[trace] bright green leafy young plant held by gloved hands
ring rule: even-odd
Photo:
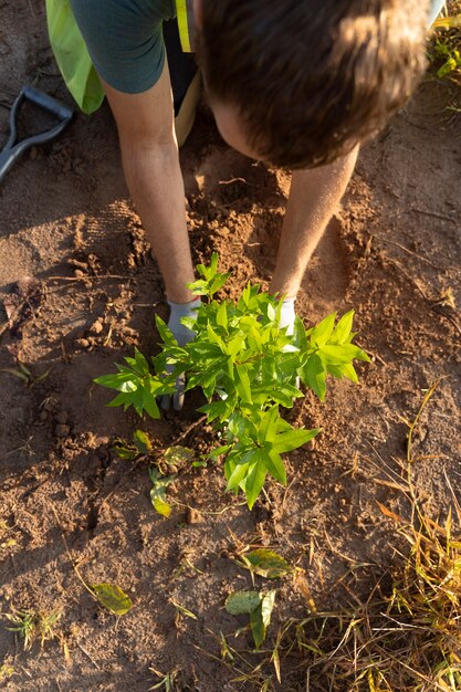
[[[223,457],[227,490],[241,489],[251,508],[268,473],[286,484],[282,454],[305,444],[319,429],[295,429],[280,415],[280,407],[292,408],[303,397],[298,380],[321,400],[325,398],[326,376],[346,377],[357,382],[353,360],[369,360],[352,343],[355,334],[353,311],[336,323],[336,313],[306,329],[296,318],[293,336],[280,327],[281,301],[248,285],[237,303],[213,296],[228,275],[218,271],[218,256],[210,266],[197,266],[201,279],[189,284],[205,296],[196,317],[182,323],[196,334],[180,347],[160,317],[156,324],[161,350],[147,359],[138,352],[117,365],[118,373],[98,377],[98,385],[118,391],[108,406],[133,406],[159,417],[156,397],[175,391],[177,377],[186,373],[186,390],[200,387],[208,403],[199,410],[221,433],[224,443],[211,458]]]

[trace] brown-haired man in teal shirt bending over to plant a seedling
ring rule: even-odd
[[[440,9],[441,2],[436,2]],[[164,22],[181,13],[223,139],[292,169],[270,292],[292,329],[308,261],[358,147],[426,67],[421,0],[71,0],[114,114],[125,177],[158,262],[180,344],[198,302]],[[432,6],[432,10],[434,7]],[[190,64],[188,66],[190,70]],[[175,74],[174,74],[175,77]],[[182,396],[176,400],[180,408]]]

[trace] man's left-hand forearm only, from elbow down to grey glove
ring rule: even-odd
[[[195,296],[186,283],[195,276],[177,148],[174,143],[147,146],[143,140],[121,140],[121,145],[128,188],[160,268],[167,298],[191,301]]]

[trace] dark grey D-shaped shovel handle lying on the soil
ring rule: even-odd
[[[52,127],[51,129],[39,133],[36,135],[31,135],[25,139],[17,141],[18,115],[21,106],[25,101],[29,101],[33,105],[39,106],[39,108],[42,108],[51,115],[54,115],[59,119],[59,123],[54,125],[54,127]],[[57,135],[60,135],[63,129],[67,127],[73,116],[74,112],[55,98],[52,98],[48,94],[39,91],[38,88],[33,88],[32,86],[24,86],[21,90],[17,99],[14,101],[13,105],[11,106],[9,117],[10,136],[8,137],[7,144],[0,153],[0,182],[3,180],[4,176],[10,170],[14,161],[17,161],[17,159],[19,159],[19,157],[27,149],[38,144],[44,144],[45,141],[50,141],[50,139],[54,139],[54,137],[57,137]]]

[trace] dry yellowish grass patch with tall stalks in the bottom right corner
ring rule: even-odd
[[[408,507],[404,518],[378,503],[400,545],[394,565],[376,579],[366,600],[343,583],[349,605],[342,610],[317,612],[306,598],[306,617],[284,622],[273,648],[260,652],[258,665],[250,652],[234,650],[221,635],[221,662],[233,671],[235,689],[461,692],[461,506],[447,479],[451,506],[433,518],[412,483],[420,459],[412,432],[439,381],[427,390],[413,422],[407,422],[407,459],[398,463],[399,473],[380,463],[389,475],[386,484],[402,494]]]

